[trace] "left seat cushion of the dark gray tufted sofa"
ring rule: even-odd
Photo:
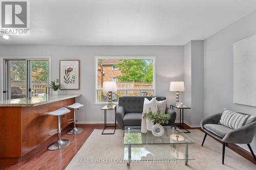
[[[126,113],[123,117],[123,124],[124,126],[140,126],[141,117],[141,113]]]

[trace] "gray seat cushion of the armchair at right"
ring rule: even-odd
[[[221,138],[223,138],[227,133],[232,131],[232,129],[218,124],[206,124],[204,125],[204,128]]]

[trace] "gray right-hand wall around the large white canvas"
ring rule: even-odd
[[[204,117],[224,108],[256,115],[256,107],[233,103],[232,56],[234,42],[256,34],[255,20],[256,11],[204,41]],[[256,150],[256,136],[252,148]]]

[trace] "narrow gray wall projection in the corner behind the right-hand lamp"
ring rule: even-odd
[[[204,116],[203,41],[184,45],[184,101],[191,109],[184,111],[185,122],[198,127]]]

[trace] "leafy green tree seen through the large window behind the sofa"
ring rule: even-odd
[[[123,59],[116,66],[122,72],[121,82],[153,82],[153,60]]]

